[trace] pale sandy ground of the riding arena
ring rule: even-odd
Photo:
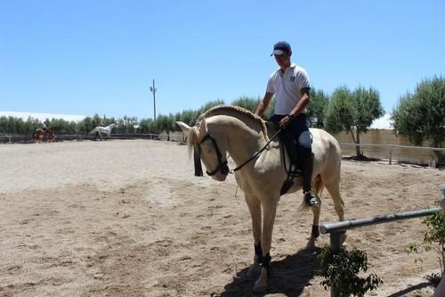
[[[193,177],[187,147],[150,140],[0,145],[0,296],[249,296],[250,218],[234,177]],[[424,209],[445,171],[343,161],[346,218]],[[328,296],[315,252],[304,251],[312,213],[285,195],[272,242],[268,296]],[[328,194],[321,221],[336,220]],[[349,232],[384,285],[370,296],[430,296],[422,219]],[[318,245],[328,243],[321,235]],[[419,256],[420,257],[420,256]]]

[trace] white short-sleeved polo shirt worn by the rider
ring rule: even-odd
[[[275,95],[274,113],[285,115],[292,111],[300,101],[300,90],[303,87],[311,87],[311,83],[302,67],[292,63],[284,73],[281,70],[273,72],[267,82],[266,92]]]

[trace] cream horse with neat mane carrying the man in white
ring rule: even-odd
[[[207,174],[218,181],[225,180],[230,172],[235,171],[235,178],[250,210],[255,241],[254,264],[249,268],[247,276],[259,274],[254,291],[265,292],[271,263],[269,252],[272,229],[280,189],[287,179],[285,164],[289,164],[286,153],[280,148],[278,137],[271,139],[278,129],[250,111],[228,105],[219,105],[206,111],[194,127],[183,122],[177,124],[183,132],[188,133],[190,152],[191,149],[195,151],[195,170],[202,160]],[[320,196],[326,187],[334,200],[338,218],[344,220],[344,202],[339,191],[342,161],[340,145],[336,138],[324,130],[312,128],[311,133],[314,190]],[[266,149],[258,154],[264,147]],[[237,166],[232,171],[227,166],[228,154]],[[301,187],[302,177],[296,177],[294,186],[287,194]],[[302,207],[304,205],[302,202]],[[315,246],[315,240],[320,235],[320,206],[319,201],[318,207],[312,207],[313,225],[307,244],[309,248]]]

